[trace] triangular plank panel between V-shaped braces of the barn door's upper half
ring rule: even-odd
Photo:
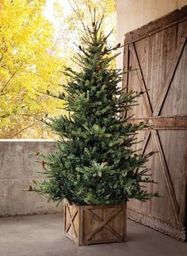
[[[162,93],[163,82],[170,71],[170,64],[173,63],[177,43],[177,25],[155,33],[148,38],[150,39],[149,63],[144,69],[148,70],[147,88],[149,89],[152,109],[155,110]],[[135,44],[141,44],[141,41]]]

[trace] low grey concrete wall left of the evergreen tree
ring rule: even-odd
[[[44,140],[0,139],[0,216],[62,212],[63,207],[47,202],[44,196],[28,189],[32,179],[42,178],[36,152],[49,152],[53,147]]]

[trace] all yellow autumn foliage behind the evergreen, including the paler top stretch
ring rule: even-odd
[[[55,0],[59,38],[52,22],[44,17],[46,0],[0,0],[0,139],[52,138],[40,120],[59,115],[62,101],[40,94],[62,90],[63,66],[74,65],[82,25],[72,11],[64,15],[63,2]],[[89,8],[105,13],[105,31],[115,28],[115,0],[69,0],[84,21]],[[61,23],[60,23],[61,21]],[[116,38],[115,30],[112,44]],[[115,65],[115,63],[114,63]]]

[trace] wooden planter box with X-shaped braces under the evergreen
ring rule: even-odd
[[[63,201],[63,230],[78,246],[126,241],[126,204],[76,205]]]

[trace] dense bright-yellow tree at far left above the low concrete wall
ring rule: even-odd
[[[58,101],[37,91],[58,88],[64,60],[58,48],[51,51],[54,29],[44,0],[0,5],[0,138],[42,138],[37,119],[56,114]]]

